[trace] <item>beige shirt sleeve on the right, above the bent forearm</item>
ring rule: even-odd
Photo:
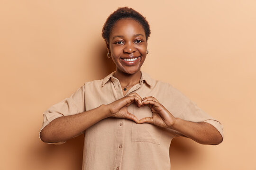
[[[214,126],[222,136],[223,126],[220,122],[212,117],[210,117],[206,112],[201,110],[194,102],[190,101],[187,107],[183,110],[182,114],[179,116],[181,119],[192,121],[192,122],[206,122]]]

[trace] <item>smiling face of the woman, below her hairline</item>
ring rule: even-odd
[[[112,28],[107,46],[116,64],[115,76],[118,78],[122,74],[128,74],[138,77],[139,80],[140,68],[146,59],[147,48],[143,27],[134,19],[119,20]],[[128,82],[125,83],[127,84],[121,85],[129,85]]]

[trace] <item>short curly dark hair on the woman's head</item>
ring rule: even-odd
[[[136,20],[138,23],[140,23],[145,31],[146,40],[148,39],[151,32],[150,32],[149,24],[146,20],[146,17],[143,17],[140,13],[138,13],[133,8],[122,7],[122,8],[118,8],[116,11],[110,14],[110,16],[107,18],[102,28],[102,37],[107,43],[109,43],[110,41],[109,38],[110,38],[110,33],[113,26],[116,24],[117,21],[123,18],[131,18]]]

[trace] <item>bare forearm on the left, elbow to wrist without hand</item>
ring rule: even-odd
[[[101,105],[79,114],[56,118],[41,131],[40,137],[42,141],[47,143],[66,141],[107,118],[108,114],[106,105]]]

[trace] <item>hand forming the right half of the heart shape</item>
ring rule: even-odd
[[[154,97],[145,97],[142,105],[149,105],[153,115],[139,120],[139,123],[150,123],[159,127],[170,128],[174,125],[176,118]]]

